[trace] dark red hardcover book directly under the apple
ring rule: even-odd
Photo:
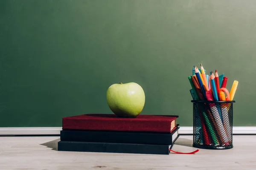
[[[83,114],[62,118],[62,129],[112,130],[171,133],[178,116],[139,115],[136,118],[120,118],[115,114]]]

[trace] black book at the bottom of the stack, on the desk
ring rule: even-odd
[[[169,155],[172,145],[59,141],[58,151]]]

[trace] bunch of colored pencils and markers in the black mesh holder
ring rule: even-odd
[[[195,113],[198,114],[196,115],[198,118],[200,116],[201,121],[199,120],[196,125],[199,129],[196,132],[198,136],[195,140],[198,144],[203,145],[228,146],[232,142],[232,125],[229,122],[229,110],[232,105],[215,101],[233,100],[238,81],[233,82],[229,93],[226,89],[227,77],[224,77],[224,74],[218,75],[218,71],[215,70],[215,74],[210,71],[210,74],[206,75],[202,63],[200,66],[200,69],[194,66],[192,76],[189,76],[192,85],[190,92],[194,100],[196,98],[194,94],[198,94],[198,100],[211,100],[212,102],[198,103],[199,113]],[[211,98],[208,99],[207,95]]]

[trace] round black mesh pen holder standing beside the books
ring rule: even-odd
[[[193,147],[233,148],[233,103],[235,101],[198,101],[193,103]]]

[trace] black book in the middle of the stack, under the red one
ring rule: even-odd
[[[61,130],[60,140],[68,142],[172,145],[179,136],[178,129],[179,127],[173,130],[172,133]]]

